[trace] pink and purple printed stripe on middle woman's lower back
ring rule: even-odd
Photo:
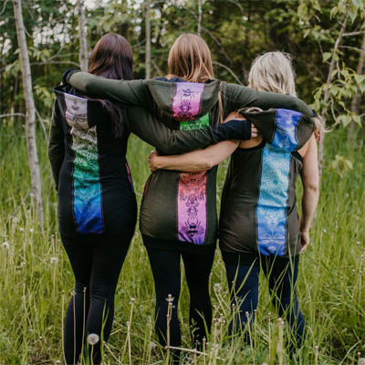
[[[206,231],[207,172],[180,174],[177,196],[178,239],[203,245]]]

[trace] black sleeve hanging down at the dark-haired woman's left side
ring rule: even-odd
[[[56,190],[58,190],[58,177],[61,170],[62,162],[65,157],[64,133],[62,130],[60,114],[57,101],[53,109],[51,128],[49,132],[48,142],[48,158],[51,163],[53,178],[56,183]]]

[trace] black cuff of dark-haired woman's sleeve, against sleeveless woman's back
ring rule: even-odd
[[[212,130],[217,141],[251,139],[251,121],[249,120],[229,120],[212,127]]]

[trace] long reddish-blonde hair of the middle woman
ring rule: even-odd
[[[205,82],[214,78],[212,55],[201,36],[186,33],[179,36],[169,54],[169,75],[190,82]]]

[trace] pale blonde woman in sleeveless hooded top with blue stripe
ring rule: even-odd
[[[249,73],[249,86],[296,96],[291,58],[281,52],[257,57]],[[259,136],[250,141],[224,141],[181,156],[158,156],[153,152],[149,157],[151,171],[208,170],[233,153],[219,225],[231,301],[239,308],[231,331],[240,332],[248,320],[254,319],[262,269],[278,314],[287,316],[295,338],[293,344],[300,347],[304,319],[297,303],[297,266],[299,253],[309,244],[309,226],[318,203],[317,144],[312,131],[314,125],[320,135],[321,126],[315,118],[304,122],[306,117],[294,110],[241,113],[255,123]],[[238,115],[233,113],[232,117]],[[303,183],[300,220],[296,209],[297,174]]]

